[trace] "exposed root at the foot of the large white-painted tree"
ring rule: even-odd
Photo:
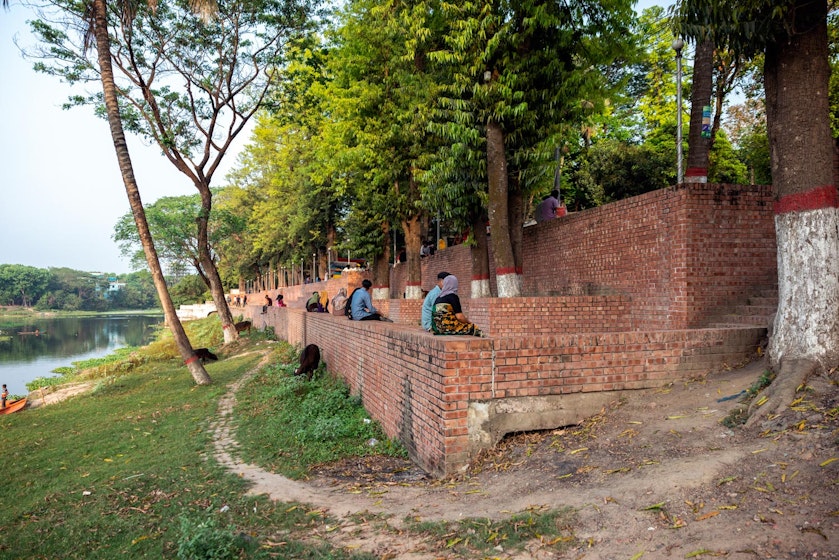
[[[749,419],[746,420],[746,427],[750,428],[760,423],[767,429],[787,428],[781,416],[789,408],[798,389],[818,371],[819,364],[814,360],[783,361],[772,384],[758,393],[749,405]]]

